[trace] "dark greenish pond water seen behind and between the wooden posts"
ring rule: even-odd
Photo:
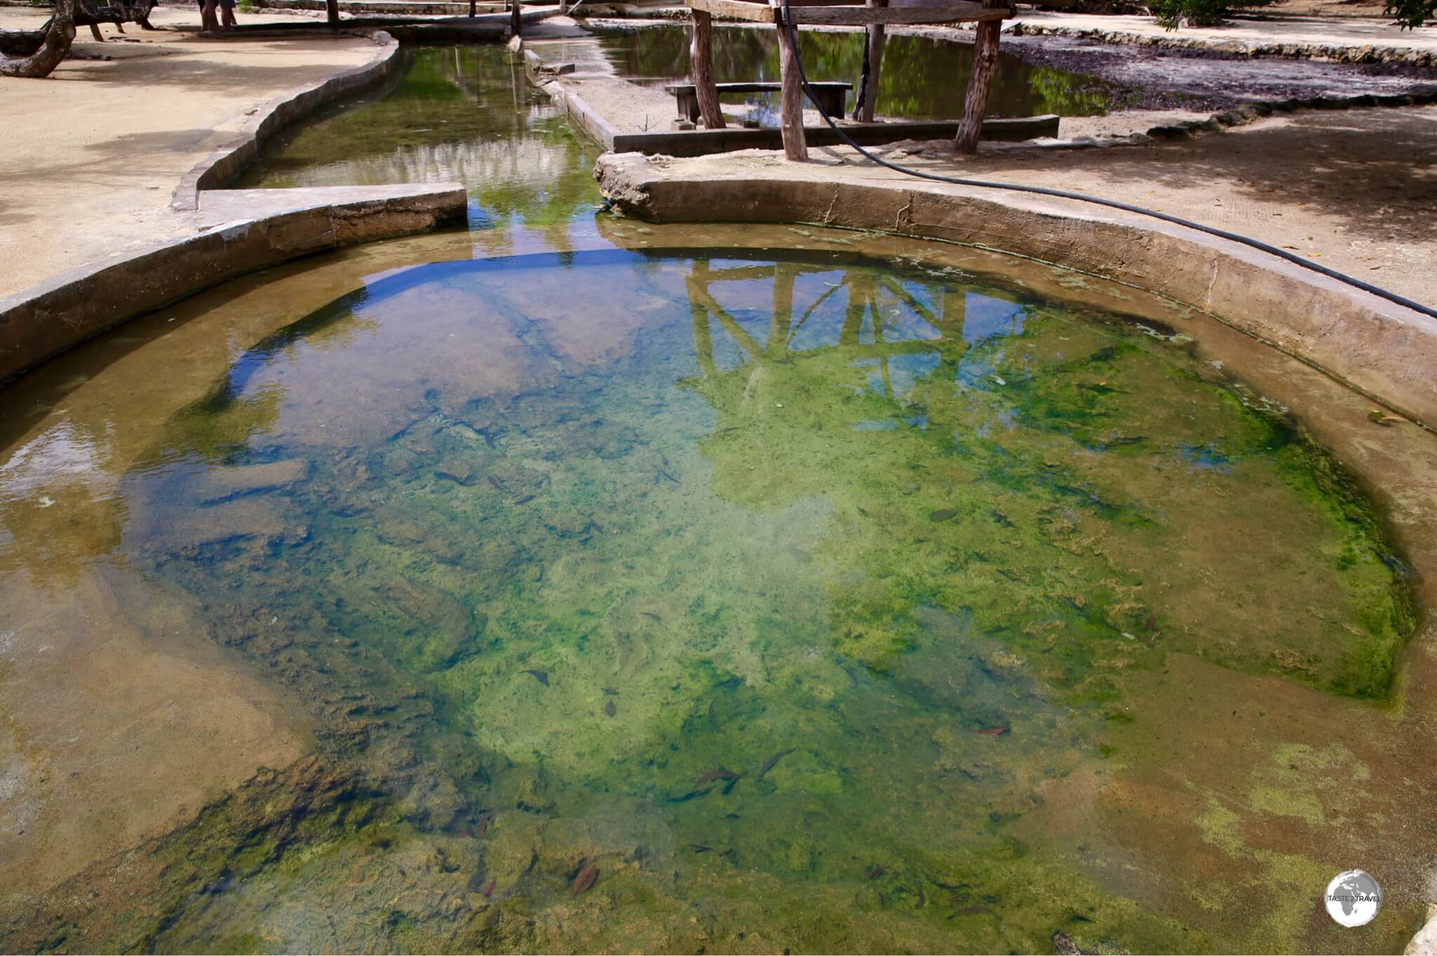
[[[690,79],[688,35],[684,27],[593,30],[619,76],[664,85]],[[803,66],[813,81],[846,81],[858,89],[864,63],[864,35],[803,32]],[[772,29],[720,27],[714,30],[717,82],[777,82],[779,47]],[[973,68],[973,46],[924,36],[888,36],[878,78],[878,114],[905,119],[957,119]],[[934,78],[943,78],[934,82]],[[855,92],[848,93],[854,109]],[[989,115],[1095,116],[1122,102],[1124,91],[1096,76],[1036,66],[999,53],[989,93]],[[750,95],[744,102],[766,108],[766,121],[777,99]]]

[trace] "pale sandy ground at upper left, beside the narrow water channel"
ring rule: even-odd
[[[244,16],[244,14],[241,14]],[[0,7],[0,27],[34,29],[32,10]],[[160,7],[157,27],[195,26]],[[253,22],[247,19],[246,22]],[[49,79],[0,78],[0,298],[116,252],[194,230],[170,210],[197,162],[274,96],[369,60],[364,37],[207,40],[193,33],[76,35],[80,56]]]

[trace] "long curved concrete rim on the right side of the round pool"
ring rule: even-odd
[[[1016,253],[1190,305],[1414,421],[1437,424],[1437,321],[1256,249],[1079,201],[879,178],[856,165],[609,154],[604,194],[650,221],[792,221]]]

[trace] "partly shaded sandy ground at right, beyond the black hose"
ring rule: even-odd
[[[885,158],[1181,216],[1437,305],[1437,106],[1300,112],[1178,142],[984,144],[964,160],[941,145],[897,147]]]

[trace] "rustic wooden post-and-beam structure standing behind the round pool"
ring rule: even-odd
[[[808,145],[803,141],[803,88],[799,79],[798,58],[793,37],[783,19],[783,0],[685,0],[693,16],[693,46],[690,49],[694,86],[698,96],[698,112],[708,129],[723,128],[723,114],[718,109],[718,91],[713,68],[713,17],[714,14],[773,23],[779,33],[779,76],[780,125],[783,129],[783,152],[790,160],[806,160]],[[997,68],[999,20],[1013,16],[1004,0],[789,0],[793,26],[803,23],[822,26],[862,26],[868,29],[869,76],[862,86],[862,102],[858,116],[872,122],[874,102],[878,91],[878,70],[882,62],[884,26],[888,23],[977,23],[973,72],[969,76],[967,98],[963,104],[963,122],[954,139],[961,152],[977,148],[983,127],[983,111],[987,105],[989,86]]]

